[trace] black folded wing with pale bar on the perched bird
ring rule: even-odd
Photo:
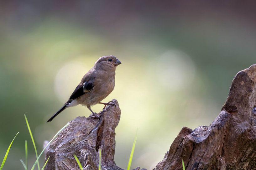
[[[74,100],[74,99],[80,97],[81,95],[91,91],[94,87],[93,82],[94,82],[94,78],[90,78],[90,79],[81,81],[81,83],[79,85],[77,85],[76,89],[70,96],[69,100]]]

